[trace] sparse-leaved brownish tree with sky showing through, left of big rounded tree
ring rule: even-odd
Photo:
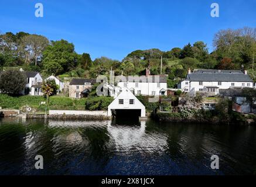
[[[47,46],[49,46],[49,40],[36,34],[23,36],[19,45],[20,51],[25,55],[25,63],[29,64],[35,60],[35,66]]]

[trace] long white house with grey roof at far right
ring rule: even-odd
[[[209,92],[218,95],[219,89],[228,88],[253,88],[253,81],[247,74],[240,70],[194,70],[187,74],[185,80],[180,82],[178,88],[183,92]]]

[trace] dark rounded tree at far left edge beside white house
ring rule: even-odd
[[[26,76],[17,70],[2,71],[0,75],[0,89],[4,93],[18,95],[25,89]]]

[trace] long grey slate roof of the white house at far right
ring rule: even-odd
[[[213,81],[213,82],[253,82],[249,75],[238,70],[202,70],[187,74],[186,81]]]

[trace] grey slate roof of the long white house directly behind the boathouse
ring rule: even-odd
[[[159,79],[158,77],[159,76]],[[118,76],[119,79],[122,79],[122,82],[167,82],[167,76],[166,75],[149,75],[147,78],[146,76],[134,76],[134,77],[125,77],[125,76]],[[132,78],[132,79],[131,79]],[[124,81],[126,80],[126,81]]]

